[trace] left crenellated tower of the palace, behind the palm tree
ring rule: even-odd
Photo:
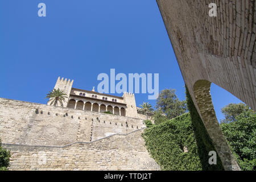
[[[70,81],[70,79],[67,80],[67,78],[58,78],[55,84],[55,89],[60,89],[60,90],[64,90],[64,92],[67,94],[67,97],[69,98],[69,95],[71,93],[71,89],[72,89],[72,85],[73,85],[73,80]],[[68,98],[65,98],[66,102],[63,102],[63,107],[67,107],[68,104]],[[48,102],[47,105],[49,105],[50,103]]]

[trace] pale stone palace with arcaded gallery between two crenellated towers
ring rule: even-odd
[[[144,113],[140,107],[136,106],[136,101],[133,93],[123,93],[122,97],[103,94],[92,90],[82,90],[72,88],[73,80],[67,78],[58,78],[55,84],[55,89],[64,90],[67,94],[64,107],[89,110],[98,113],[110,112],[115,115],[126,117],[146,119],[146,115],[151,117],[153,113]],[[50,102],[48,102],[49,105]]]

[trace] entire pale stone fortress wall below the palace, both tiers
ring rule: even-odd
[[[155,170],[142,119],[0,98],[11,170]]]

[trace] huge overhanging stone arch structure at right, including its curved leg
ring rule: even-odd
[[[185,84],[224,168],[240,169],[218,125],[210,83],[256,109],[255,1],[157,2]],[[209,16],[210,3],[217,4],[216,17]]]

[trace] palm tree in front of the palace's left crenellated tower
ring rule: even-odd
[[[66,102],[65,98],[68,98],[68,97],[67,97],[67,94],[64,92],[64,90],[60,90],[58,88],[58,89],[53,89],[53,90],[49,91],[46,98],[49,98],[49,101],[51,101],[50,105],[52,105],[54,103],[53,105],[57,106],[58,101],[59,101],[60,106],[63,107],[63,101]]]

